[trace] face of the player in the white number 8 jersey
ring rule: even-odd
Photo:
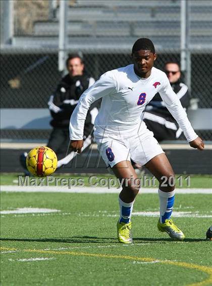
[[[139,50],[134,52],[132,54],[132,59],[136,75],[141,78],[148,78],[151,74],[151,68],[156,57],[156,54],[149,50]]]

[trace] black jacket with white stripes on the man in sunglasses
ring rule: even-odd
[[[186,110],[189,106],[189,99],[190,99],[189,93],[188,93],[188,87],[180,81],[177,81],[176,83],[171,84],[171,86],[172,86],[173,91],[176,93],[176,95],[180,99],[182,106]],[[164,117],[167,120],[175,121],[172,114],[166,108],[166,105],[163,102],[159,93],[155,94],[153,99],[147,105],[145,111]]]

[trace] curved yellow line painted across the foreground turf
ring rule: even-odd
[[[8,248],[1,247],[0,250],[18,250],[16,248]],[[86,253],[86,252],[73,252],[73,251],[55,251],[55,250],[41,250],[41,249],[23,249],[23,252],[34,252],[34,253],[46,253],[46,254],[59,254],[59,255],[73,255],[73,256],[89,256],[89,257],[100,257],[100,258],[115,258],[115,259],[127,259],[127,260],[136,260],[136,261],[145,261],[145,262],[153,262],[155,258],[151,257],[136,257],[136,256],[127,256],[127,255],[112,255],[112,254],[98,254],[98,253]],[[187,262],[178,262],[178,261],[170,261],[170,260],[160,260],[161,263],[176,265],[180,267],[196,269],[202,272],[209,274],[209,277],[206,280],[201,282],[192,283],[188,286],[204,286],[212,284],[212,267],[209,266],[201,266]]]

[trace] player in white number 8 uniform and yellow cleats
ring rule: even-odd
[[[82,94],[70,119],[70,146],[75,152],[81,153],[86,113],[95,100],[102,98],[94,123],[94,139],[104,162],[123,183],[117,223],[118,240],[122,243],[132,243],[131,215],[139,191],[139,180],[136,180],[130,159],[145,165],[160,183],[158,230],[167,232],[176,240],[185,237],[171,219],[175,200],[173,169],[153,133],[142,120],[146,104],[157,92],[184,131],[190,146],[204,149],[203,141],[194,132],[166,74],[153,67],[156,57],[152,41],[138,39],[132,47],[133,64],[103,74]],[[166,183],[163,176],[167,178]]]

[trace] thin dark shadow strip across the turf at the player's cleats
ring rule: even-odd
[[[1,241],[25,241],[25,242],[59,242],[59,243],[118,243],[115,237],[96,237],[96,236],[74,236],[70,238],[0,238]],[[171,238],[134,238],[136,242],[172,242]],[[186,238],[183,242],[206,241],[201,238]]]

